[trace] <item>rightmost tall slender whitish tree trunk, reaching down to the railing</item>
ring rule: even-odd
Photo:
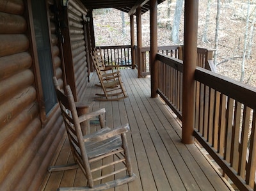
[[[244,64],[246,59],[246,49],[247,49],[247,43],[248,43],[249,18],[250,18],[250,0],[247,1],[247,15],[246,15],[246,26],[245,26],[245,33],[244,33],[243,60],[241,63],[241,78],[240,78],[241,82],[244,81]]]

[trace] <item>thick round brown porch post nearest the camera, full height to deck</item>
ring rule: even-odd
[[[182,142],[195,139],[195,70],[197,54],[198,0],[185,0],[184,61],[182,86]]]

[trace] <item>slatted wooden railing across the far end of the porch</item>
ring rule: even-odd
[[[137,46],[131,47],[131,45],[100,46],[96,47],[96,49],[101,49],[106,65],[128,67],[134,65],[138,68],[138,77],[150,75],[150,47],[142,47],[140,52],[138,52]],[[132,63],[132,49],[135,50],[135,63]],[[183,60],[183,47],[180,45],[158,47],[158,52]],[[215,66],[211,61],[213,50],[198,48],[197,52],[197,66],[215,71]],[[209,63],[211,63],[211,65],[209,65]]]

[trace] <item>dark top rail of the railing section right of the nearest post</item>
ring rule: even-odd
[[[196,67],[195,79],[252,109],[256,109],[256,88],[252,86],[200,67]]]

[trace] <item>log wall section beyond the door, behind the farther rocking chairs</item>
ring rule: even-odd
[[[86,11],[76,1],[70,1],[68,5],[68,24],[77,100],[80,100],[85,95],[86,84],[88,82],[83,14],[86,15]]]

